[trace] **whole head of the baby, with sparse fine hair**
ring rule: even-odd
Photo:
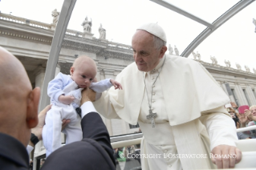
[[[71,79],[77,83],[79,88],[90,87],[96,73],[97,67],[94,60],[84,55],[75,59],[70,70]]]

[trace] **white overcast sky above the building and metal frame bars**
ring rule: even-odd
[[[226,10],[234,6],[237,0],[167,0],[189,13],[213,22]],[[1,0],[2,13],[28,18],[39,22],[52,22],[51,11],[60,11],[63,0]],[[158,22],[166,32],[168,42],[177,46],[180,54],[185,47],[205,29],[205,26],[185,18],[149,0],[77,0],[68,28],[83,31],[81,23],[85,17],[92,19],[92,34],[99,38],[98,28],[102,23],[107,30],[107,39],[131,45],[136,27],[146,22]],[[240,63],[256,69],[256,33],[253,18],[256,19],[256,2],[205,39],[196,49],[201,60],[211,63],[210,55],[217,58],[221,66],[224,60],[230,60],[231,67]],[[193,59],[193,55],[189,55]]]

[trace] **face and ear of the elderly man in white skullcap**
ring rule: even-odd
[[[132,38],[133,58],[139,71],[152,71],[165,55],[166,47],[157,50],[153,35],[144,30],[137,30]]]

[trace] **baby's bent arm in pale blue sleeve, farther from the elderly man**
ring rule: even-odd
[[[61,102],[64,104],[70,104],[75,99],[72,96],[65,96],[63,92],[63,84],[66,83],[65,79],[68,75],[63,75],[59,73],[55,79],[52,79],[50,83],[48,83],[47,94],[51,99],[54,99],[56,102]]]

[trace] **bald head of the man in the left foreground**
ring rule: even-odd
[[[39,88],[32,91],[22,63],[0,47],[0,132],[26,145],[38,122]]]

